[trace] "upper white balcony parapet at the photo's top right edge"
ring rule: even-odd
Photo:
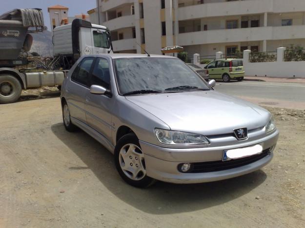
[[[300,0],[243,0],[190,5],[178,8],[179,20],[233,15],[305,11]]]

